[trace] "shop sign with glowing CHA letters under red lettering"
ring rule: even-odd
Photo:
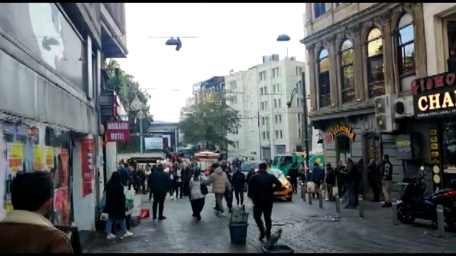
[[[411,83],[415,118],[456,115],[456,75],[443,73]]]

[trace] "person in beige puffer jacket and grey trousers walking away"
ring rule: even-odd
[[[231,189],[227,174],[218,164],[213,164],[214,172],[209,176],[207,183],[212,184],[212,192],[215,194],[217,216],[223,216],[223,195],[227,189]]]

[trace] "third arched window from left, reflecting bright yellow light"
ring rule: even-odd
[[[385,94],[385,77],[383,73],[383,36],[382,31],[373,28],[368,35],[367,42],[367,67],[369,97]]]

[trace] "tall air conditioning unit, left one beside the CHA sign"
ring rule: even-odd
[[[375,97],[375,123],[380,133],[390,133],[397,130],[394,123],[394,96],[386,94]]]

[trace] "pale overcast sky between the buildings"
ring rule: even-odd
[[[246,70],[261,63],[263,55],[296,56],[304,61],[303,13],[306,3],[126,3],[127,47],[120,60],[152,94],[155,120],[177,122],[180,108],[192,96],[192,85],[231,69]],[[291,37],[277,42],[280,34]],[[158,36],[182,38],[182,48],[165,46]]]

